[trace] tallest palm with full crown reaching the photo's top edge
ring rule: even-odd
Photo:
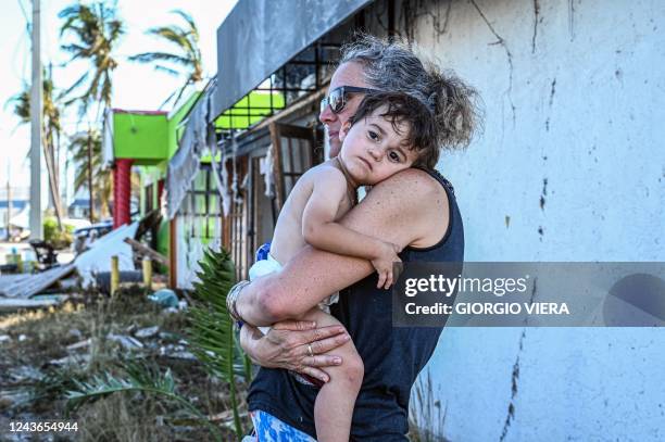
[[[80,116],[83,117],[88,111],[91,102],[97,102],[97,117],[100,119],[100,111],[103,106],[111,105],[111,97],[113,93],[113,83],[111,75],[117,67],[117,61],[114,58],[114,49],[117,46],[120,37],[124,34],[124,24],[116,15],[115,3],[111,7],[105,5],[103,1],[99,1],[91,5],[73,4],[63,9],[60,18],[64,20],[64,24],[60,28],[61,37],[64,34],[73,36],[73,42],[62,45],[61,48],[72,54],[73,60],[88,60],[91,64],[91,70],[83,74],[66,91],[68,96],[74,90],[88,81],[85,92],[68,100],[67,103],[78,101],[80,103]],[[88,134],[93,130],[88,128]],[[75,159],[79,159],[88,168],[88,180],[90,181],[89,198],[90,198],[90,219],[95,219],[95,195],[92,176],[104,182],[109,181],[106,177],[101,178],[101,174],[106,175],[108,172],[101,169],[101,147],[93,148],[91,144],[91,136],[85,137],[87,144],[81,146],[78,142],[73,142],[72,147],[83,149],[83,153],[75,151]],[[88,156],[84,161],[83,156]],[[100,168],[93,174],[92,167],[99,164]],[[83,181],[81,181],[83,182]]]

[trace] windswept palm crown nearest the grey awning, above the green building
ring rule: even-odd
[[[159,26],[147,30],[147,34],[161,38],[175,45],[175,52],[143,52],[129,58],[139,63],[155,63],[154,68],[171,75],[187,76],[185,85],[180,88],[176,102],[189,85],[197,85],[203,79],[203,60],[199,49],[199,29],[188,13],[181,10],[172,11],[185,21],[184,26]],[[164,65],[165,62],[167,65]],[[165,103],[171,100],[168,97]]]

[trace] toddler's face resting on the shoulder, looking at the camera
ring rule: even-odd
[[[380,116],[385,112],[381,106],[353,126],[346,123],[339,132],[339,160],[356,185],[374,186],[417,160],[415,149],[405,140],[409,124],[400,123],[396,131],[392,123]]]

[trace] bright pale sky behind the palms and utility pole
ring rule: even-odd
[[[41,0],[41,59],[45,66],[52,65],[55,87],[66,89],[87,68],[85,62],[68,62],[68,55],[60,50],[58,13],[75,0]],[[113,75],[112,106],[127,110],[156,110],[179,86],[184,78],[154,71],[150,65],[133,63],[128,56],[149,51],[170,51],[168,43],[161,42],[145,31],[153,26],[181,24],[170,12],[181,9],[195,20],[200,34],[200,48],[205,75],[217,71],[216,30],[237,0],[118,0],[118,15],[125,22],[125,35],[117,47],[118,67]],[[29,125],[21,125],[8,101],[30,80],[32,42],[27,20],[32,21],[30,0],[3,0],[0,14],[0,186],[29,186],[27,160],[30,136]],[[109,2],[106,2],[109,3]],[[65,36],[66,39],[66,36]],[[170,109],[165,109],[170,110]],[[65,134],[73,135],[84,126],[77,123],[72,109],[63,117]],[[65,144],[65,142],[63,142]],[[64,159],[63,159],[64,161]],[[61,161],[62,163],[62,161]],[[64,167],[62,163],[61,167]],[[46,167],[42,166],[42,187],[46,189]],[[42,193],[42,201],[45,193]]]

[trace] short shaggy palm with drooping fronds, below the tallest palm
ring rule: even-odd
[[[73,152],[72,162],[76,167],[74,175],[74,191],[88,188],[89,194],[97,194],[101,202],[102,217],[109,216],[109,201],[111,200],[111,177],[102,164],[102,141],[99,130],[88,129],[76,134],[70,139],[70,151]],[[90,211],[93,201],[90,200]],[[90,212],[92,214],[92,212]]]

